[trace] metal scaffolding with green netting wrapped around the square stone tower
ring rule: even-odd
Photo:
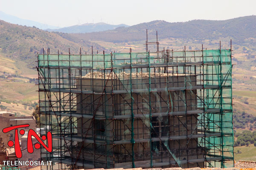
[[[38,54],[47,169],[233,167],[231,51]]]

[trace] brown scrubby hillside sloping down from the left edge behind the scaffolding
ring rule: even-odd
[[[57,53],[60,50],[60,53],[66,54],[70,48],[72,54],[78,54],[80,48],[83,53],[91,51],[92,45],[99,50],[104,49],[89,41],[73,42],[53,32],[10,24],[0,20],[0,54],[14,61],[23,61],[29,68],[36,65],[34,62],[36,60],[35,55],[38,52],[42,53],[42,48],[50,48],[51,53]]]

